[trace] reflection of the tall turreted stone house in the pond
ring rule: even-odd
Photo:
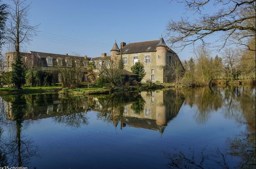
[[[139,112],[135,109],[135,103],[124,105],[122,126],[133,126],[151,130],[159,130],[161,133],[179,112],[184,97],[176,91],[152,91],[141,92],[144,108]]]

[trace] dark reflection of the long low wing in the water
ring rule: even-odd
[[[30,95],[30,98],[26,98],[26,105],[23,108],[23,120],[37,120],[72,113],[87,113],[88,106],[87,101],[82,99],[60,100],[58,95]],[[5,113],[7,120],[14,120],[12,102],[9,99],[6,102]]]

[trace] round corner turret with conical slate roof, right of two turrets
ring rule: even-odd
[[[156,67],[163,68],[167,65],[166,62],[166,53],[167,53],[167,45],[163,37],[161,36],[157,46],[156,46]]]

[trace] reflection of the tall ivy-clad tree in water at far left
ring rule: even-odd
[[[8,156],[10,165],[27,166],[30,158],[36,155],[37,147],[31,139],[21,135],[26,100],[22,95],[13,96],[11,105],[16,135],[14,138],[2,140],[1,142],[4,145],[4,151],[6,152],[6,156]]]

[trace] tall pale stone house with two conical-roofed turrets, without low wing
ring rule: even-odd
[[[117,43],[114,43],[111,50],[111,57],[121,55],[125,69],[131,71],[131,67],[136,62],[144,65],[146,72],[142,82],[173,82],[174,81],[174,64],[178,64],[180,70],[184,70],[178,55],[171,50],[165,43],[163,37],[159,40],[121,43],[121,50]]]

